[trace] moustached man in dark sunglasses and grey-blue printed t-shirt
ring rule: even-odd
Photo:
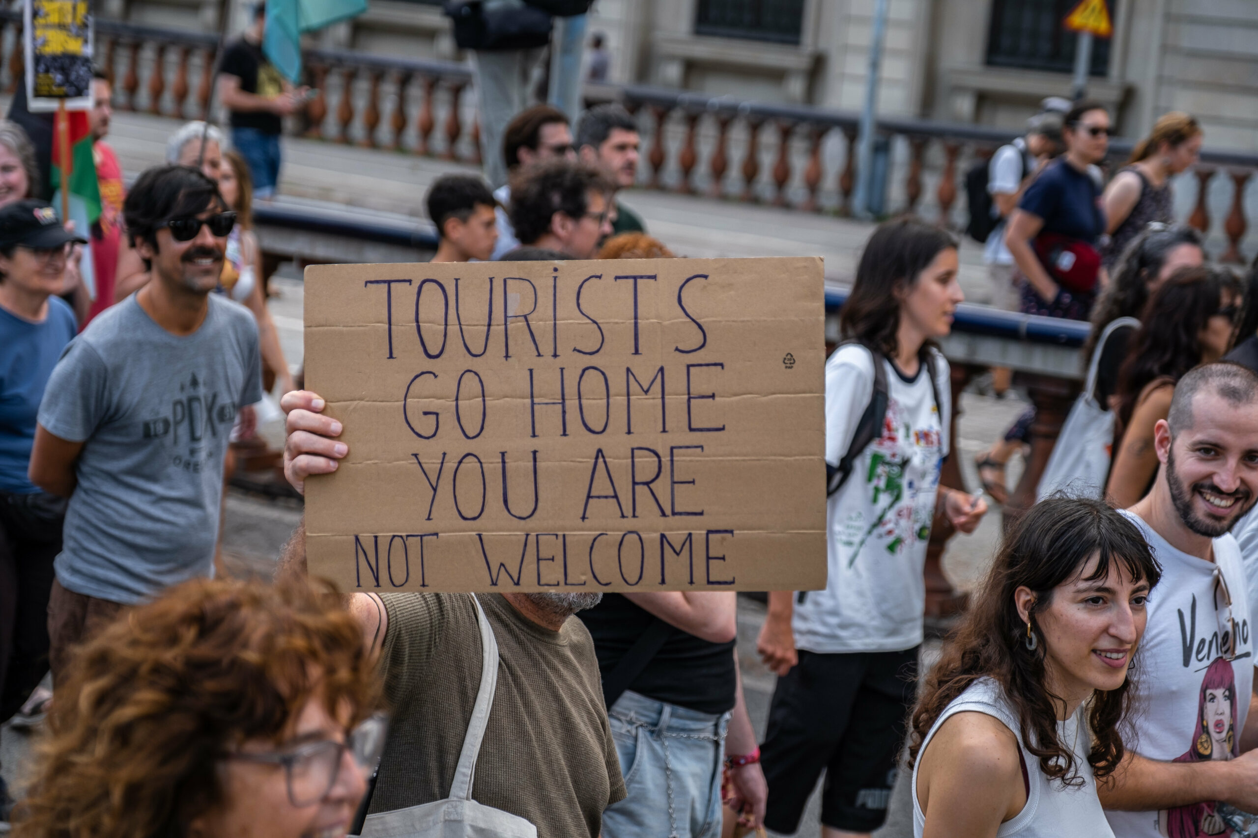
[[[185,166],[143,172],[123,204],[152,275],[67,347],[39,410],[30,480],[69,498],[48,606],[54,686],[68,650],[169,585],[214,573],[237,413],[262,398],[258,327],[211,294],[235,222]]]

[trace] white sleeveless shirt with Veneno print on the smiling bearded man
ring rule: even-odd
[[[1214,539],[1214,562],[1206,562],[1175,549],[1138,516],[1123,514],[1140,526],[1162,565],[1136,660],[1135,750],[1175,763],[1234,759],[1254,681],[1249,594],[1237,539]],[[1219,574],[1232,596],[1235,631]],[[1228,837],[1233,833],[1225,815],[1225,804],[1215,802],[1106,812],[1117,838]]]

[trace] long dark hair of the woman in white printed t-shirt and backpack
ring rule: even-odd
[[[855,339],[883,354],[896,353],[899,330],[898,293],[917,284],[942,250],[960,245],[947,230],[912,216],[883,221],[866,242],[857,281],[839,313],[844,339]]]

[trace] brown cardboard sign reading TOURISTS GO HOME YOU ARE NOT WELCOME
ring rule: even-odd
[[[820,259],[320,265],[342,590],[825,584]]]

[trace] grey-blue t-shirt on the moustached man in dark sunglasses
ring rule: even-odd
[[[262,398],[262,361],[248,309],[209,302],[201,327],[176,337],[131,297],[53,369],[39,423],[84,443],[54,564],[69,590],[133,604],[214,573],[228,437]]]

